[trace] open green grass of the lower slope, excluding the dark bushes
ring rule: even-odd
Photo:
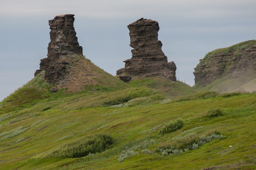
[[[256,168],[254,149],[256,94],[211,96],[118,108],[100,107],[100,105],[90,107],[86,104],[92,102],[90,99],[104,102],[112,98],[110,94],[114,96],[113,98],[129,94],[133,88],[139,87],[122,91],[100,90],[77,93],[53,101],[38,102],[29,108],[10,112],[9,116],[4,114],[6,117],[0,123],[0,133],[4,133],[1,138],[6,137],[0,141],[1,167],[3,169],[156,169],[159,167],[202,169],[211,166],[220,169]],[[83,106],[80,105],[81,101]],[[77,107],[77,102],[82,107]],[[225,111],[223,116],[202,117],[202,113],[217,107]],[[184,121],[181,129],[164,135],[159,134],[164,122],[178,118]],[[26,130],[22,131],[23,127],[26,127]],[[15,135],[9,136],[15,131],[17,131]],[[214,134],[216,131],[226,138],[214,138],[209,142],[204,141],[204,144],[200,143],[203,141],[202,137],[209,138],[207,134]],[[74,144],[83,137],[98,133],[108,133],[113,137],[115,142],[111,148],[107,147],[103,152],[91,153],[81,158],[41,156],[63,148],[65,144]],[[170,149],[170,146],[176,149],[172,149],[171,152],[166,151],[168,154],[162,155],[163,150],[161,152],[159,148]],[[118,158],[122,161],[118,161]]]

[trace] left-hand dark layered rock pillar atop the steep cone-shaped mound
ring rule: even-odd
[[[47,58],[41,60],[35,76],[45,70],[44,78],[50,84],[56,84],[66,77],[70,61],[65,56],[83,55],[83,48],[77,41],[74,20],[72,14],[58,15],[49,20],[51,42]]]

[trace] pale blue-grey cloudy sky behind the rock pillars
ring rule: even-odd
[[[132,57],[127,25],[158,21],[177,79],[193,86],[193,69],[209,51],[256,39],[255,9],[255,0],[1,0],[0,101],[34,77],[56,15],[75,14],[83,54],[112,75]]]

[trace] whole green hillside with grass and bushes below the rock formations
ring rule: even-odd
[[[0,103],[1,169],[255,169],[256,94],[137,79],[52,87],[44,72]]]

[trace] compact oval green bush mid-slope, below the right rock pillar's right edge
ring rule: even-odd
[[[172,120],[166,123],[160,130],[160,134],[170,133],[172,131],[176,131],[181,129],[184,126],[184,122],[181,119]]]

